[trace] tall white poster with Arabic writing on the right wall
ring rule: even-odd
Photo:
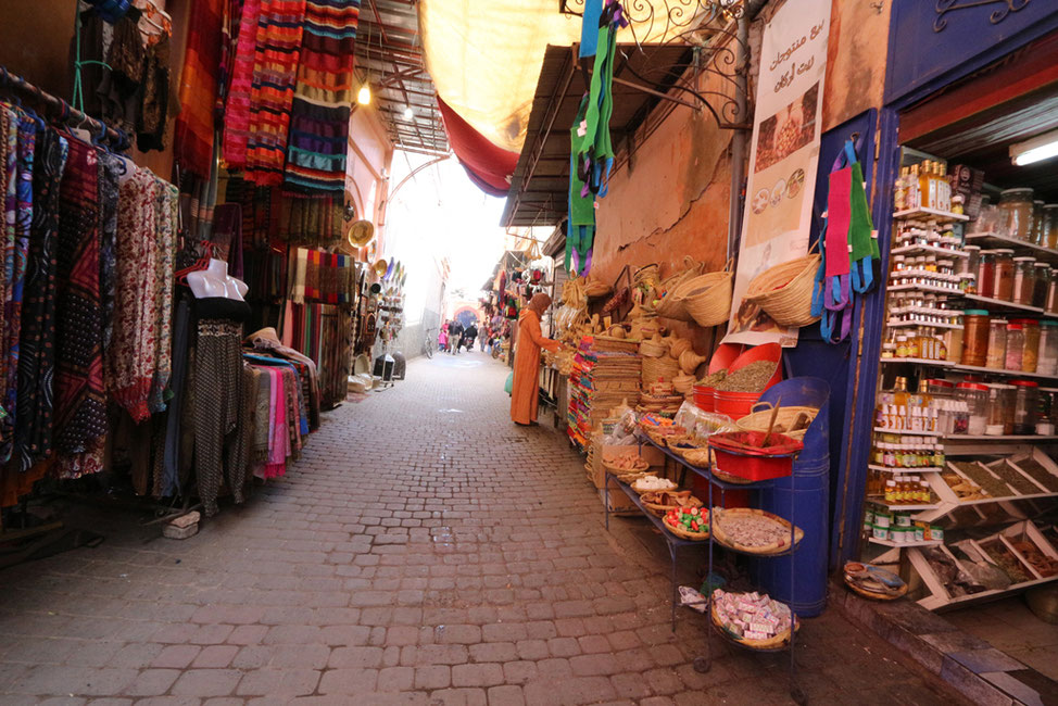
[[[831,0],[788,2],[764,29],[750,174],[725,343],[797,344],[742,295],[769,267],[803,256],[819,163]]]

